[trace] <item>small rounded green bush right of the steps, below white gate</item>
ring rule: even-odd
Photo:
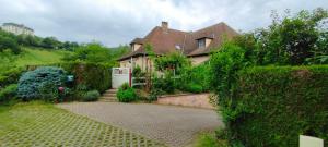
[[[129,87],[128,84],[124,84],[119,87],[116,96],[120,102],[131,102],[138,99],[136,90],[132,87]]]

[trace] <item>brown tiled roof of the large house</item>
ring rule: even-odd
[[[188,57],[203,56],[208,54],[211,49],[219,47],[224,38],[230,39],[236,35],[238,34],[225,23],[219,23],[190,33],[156,26],[144,38],[133,39],[131,44],[140,44],[142,46],[119,60],[147,54],[143,49],[145,44],[152,45],[156,54],[166,54],[179,48]],[[197,39],[200,38],[211,38],[212,41],[209,47],[199,49]]]

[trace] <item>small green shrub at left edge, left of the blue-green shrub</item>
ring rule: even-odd
[[[0,103],[16,97],[17,84],[11,84],[0,90]]]

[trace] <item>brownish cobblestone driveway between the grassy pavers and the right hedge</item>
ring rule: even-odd
[[[118,102],[72,102],[58,106],[174,147],[189,144],[200,131],[223,126],[221,118],[213,110]]]

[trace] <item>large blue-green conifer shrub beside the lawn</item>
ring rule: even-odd
[[[42,66],[24,73],[19,81],[19,97],[23,100],[58,98],[58,87],[65,83],[65,71],[60,68]]]

